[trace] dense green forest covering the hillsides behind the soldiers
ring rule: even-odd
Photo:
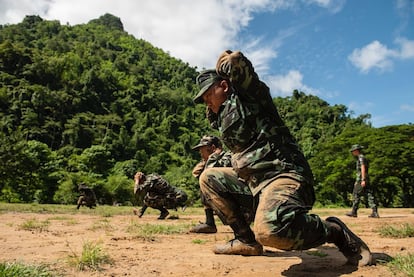
[[[100,204],[132,205],[139,170],[198,205],[191,148],[214,133],[192,102],[198,71],[110,14],[0,25],[0,201],[74,204],[84,182]],[[380,206],[414,207],[414,125],[373,128],[369,114],[301,91],[274,103],[311,163],[319,205],[349,205],[349,148],[360,143]]]

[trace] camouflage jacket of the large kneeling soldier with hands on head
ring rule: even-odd
[[[233,52],[230,59],[223,55],[216,70],[230,81],[232,91],[211,123],[233,153],[233,168],[253,195],[283,175],[312,184],[309,164],[279,116],[269,88],[242,53]]]

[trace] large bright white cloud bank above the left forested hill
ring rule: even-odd
[[[211,67],[221,51],[235,47],[236,36],[253,13],[283,7],[285,1],[201,0],[0,0],[0,24],[39,15],[71,25],[105,13],[121,18],[127,32],[199,68]]]

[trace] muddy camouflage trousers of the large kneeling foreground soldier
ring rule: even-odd
[[[210,206],[227,224],[237,219],[237,207],[242,199],[254,199],[254,233],[262,245],[303,250],[327,241],[328,226],[319,216],[308,213],[314,202],[311,184],[280,177],[253,198],[238,185],[232,168],[209,168],[200,176],[200,188]]]

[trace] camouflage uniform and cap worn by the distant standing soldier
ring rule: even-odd
[[[361,147],[359,145],[357,145],[358,147]],[[355,147],[357,147],[355,146]],[[352,150],[353,148],[351,148]],[[361,149],[361,148],[359,148]],[[352,152],[352,151],[351,151]],[[359,208],[359,203],[361,202],[361,196],[365,196],[365,199],[368,202],[368,206],[369,208],[372,209],[373,211],[373,215],[377,215],[378,216],[378,211],[377,211],[377,204],[375,203],[375,198],[374,195],[372,193],[371,190],[371,185],[369,182],[369,175],[368,175],[368,167],[369,167],[369,163],[368,160],[365,158],[364,154],[359,153],[359,155],[356,157],[357,161],[356,161],[356,179],[355,179],[355,183],[354,183],[354,190],[352,192],[352,196],[353,196],[353,203],[352,203],[352,214],[357,216],[357,211]],[[365,165],[365,186],[362,187],[361,186],[361,181],[362,181],[362,172],[361,172],[361,168],[362,165]],[[375,217],[377,217],[375,216]]]

